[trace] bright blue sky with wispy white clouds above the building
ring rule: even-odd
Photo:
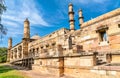
[[[120,8],[120,0],[5,0],[7,11],[2,15],[2,24],[7,35],[0,47],[8,46],[12,37],[13,46],[23,38],[23,22],[30,21],[30,35],[43,37],[60,28],[69,29],[68,4],[74,7],[75,28],[79,29],[78,10],[83,10],[84,21]]]

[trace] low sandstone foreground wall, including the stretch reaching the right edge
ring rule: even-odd
[[[112,54],[111,65],[96,65],[96,53],[88,55],[36,58],[33,70],[57,76],[75,78],[119,78],[120,66],[116,66],[119,54]],[[117,62],[119,63],[119,62]]]

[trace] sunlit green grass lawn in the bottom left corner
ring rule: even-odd
[[[0,78],[30,78],[19,72],[18,70],[12,69],[8,65],[0,65]]]

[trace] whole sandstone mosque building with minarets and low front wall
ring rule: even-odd
[[[8,40],[7,60],[14,65],[58,76],[87,74],[85,78],[93,78],[89,74],[99,77],[102,73],[119,78],[120,67],[115,67],[120,65],[120,8],[87,22],[79,10],[78,30],[74,25],[72,4],[68,11],[70,29],[61,28],[44,37],[30,37],[30,22],[26,19],[22,41],[12,46],[12,38]],[[111,65],[111,69],[107,65]]]

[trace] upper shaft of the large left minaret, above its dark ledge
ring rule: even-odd
[[[24,38],[29,39],[30,38],[30,22],[29,20],[26,18],[26,20],[24,21]]]

